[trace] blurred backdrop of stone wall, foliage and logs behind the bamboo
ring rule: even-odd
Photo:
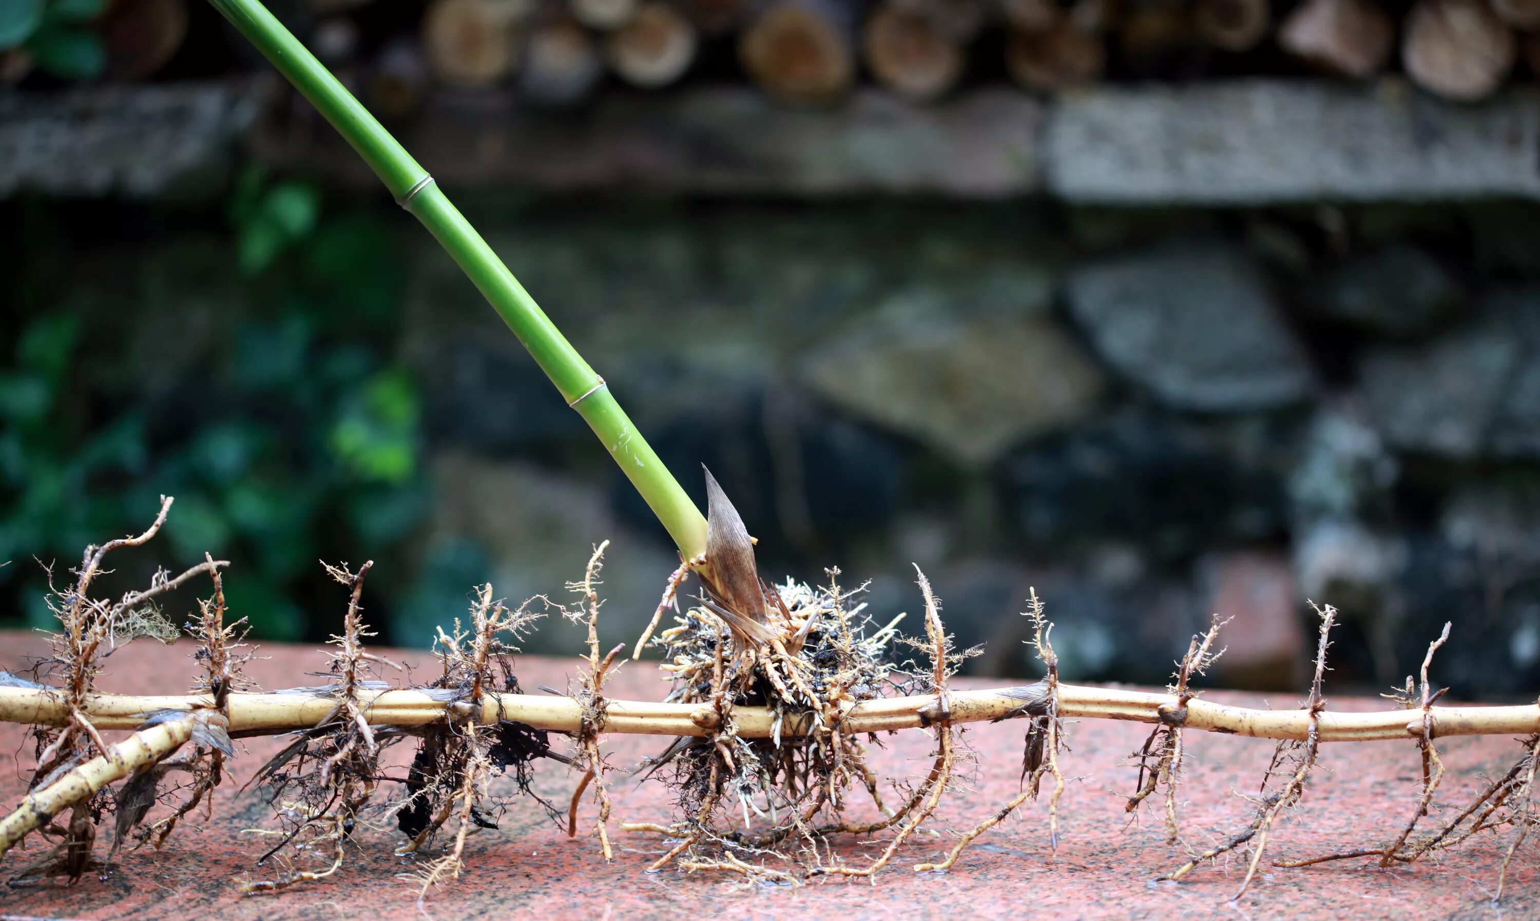
[[[976,675],[1540,685],[1532,0],[283,0],[761,571],[932,578]],[[493,311],[199,0],[0,3],[0,625],[89,542],[382,641],[610,539],[678,565]],[[1540,63],[1540,62],[1535,62]],[[191,607],[191,599],[171,604]],[[182,615],[182,610],[168,613]],[[912,618],[916,621],[916,618]],[[531,651],[571,653],[551,622]]]

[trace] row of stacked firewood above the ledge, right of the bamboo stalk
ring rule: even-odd
[[[1106,79],[1327,74],[1400,66],[1477,100],[1540,68],[1540,0],[431,0],[424,65],[444,83],[510,80],[570,102],[604,75],[659,88],[724,40],[742,74],[792,103],[841,99],[864,72],[932,100],[1001,69],[1033,91]],[[1400,54],[1397,55],[1397,43]],[[393,49],[397,57],[400,49]],[[1247,69],[1246,57],[1255,59]],[[986,60],[992,59],[992,60]],[[1398,60],[1397,60],[1398,59]],[[405,60],[388,65],[393,71]],[[407,65],[411,66],[411,65]]]

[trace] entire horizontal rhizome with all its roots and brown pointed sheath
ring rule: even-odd
[[[619,824],[624,832],[662,836],[650,869],[721,872],[756,882],[870,876],[899,859],[916,835],[933,838],[939,830],[929,826],[947,793],[961,784],[972,758],[961,724],[979,719],[1021,721],[1021,789],[956,835],[942,858],[915,862],[918,872],[955,867],[969,844],[1041,792],[1049,846],[1058,847],[1058,807],[1067,787],[1064,761],[1070,755],[1067,715],[1155,724],[1132,755],[1137,775],[1127,812],[1163,802],[1166,836],[1186,858],[1166,879],[1183,879],[1232,852],[1244,855],[1246,875],[1232,898],[1249,890],[1283,818],[1309,793],[1320,744],[1327,738],[1411,739],[1421,764],[1415,809],[1388,841],[1275,859],[1274,867],[1340,859],[1375,859],[1381,867],[1411,864],[1477,835],[1497,833],[1508,835],[1497,881],[1502,896],[1509,866],[1525,853],[1540,819],[1540,705],[1532,716],[1523,708],[1438,707],[1443,690],[1431,682],[1429,668],[1449,638],[1448,625],[1429,644],[1418,678],[1408,678],[1403,688],[1388,695],[1401,707],[1404,722],[1398,722],[1400,716],[1388,722],[1381,719],[1388,715],[1380,715],[1355,724],[1326,710],[1323,679],[1335,621],[1331,607],[1317,608],[1315,668],[1306,699],[1292,715],[1224,710],[1200,699],[1192,682],[1223,653],[1217,647],[1221,621],[1192,638],[1164,696],[1064,685],[1052,624],[1035,593],[1026,616],[1032,619],[1032,648],[1044,679],[996,692],[955,692],[950,678],[975,650],[953,648],[941,605],[922,573],[922,638],[907,638],[898,633],[902,616],[875,622],[859,601],[861,590],[842,588],[838,570],[830,570],[827,585],[818,588],[793,581],[761,582],[741,522],[718,528],[713,521],[713,534],[735,542],[730,551],[719,542],[707,558],[685,561],[668,579],[658,616],[636,644],[638,651],[650,642],[664,653],[662,670],[670,681],[665,705],[647,710],[605,695],[605,681],[627,648],[622,644],[601,651],[605,544],[594,548],[584,578],[568,585],[578,596],[573,604],[541,596],[508,607],[496,599],[491,585],[477,587],[465,622],[457,619],[434,641],[439,673],[411,688],[387,682],[382,675],[399,667],[365,647],[373,635],[360,599],[371,564],[357,570],[328,565],[348,598],[342,631],[331,641],[330,681],[256,695],[242,668],[251,658],[243,642],[245,621],[231,621],[226,611],[220,584],[226,564],[205,558],[177,576],[157,573],[148,588],[116,601],[92,594],[103,558],[149,541],[169,507],[171,499],[165,499],[143,534],[88,548],[72,573],[74,582],[52,590],[49,604],[60,627],[51,638],[49,656],[29,676],[0,671],[0,718],[32,722],[35,756],[28,795],[0,818],[0,853],[25,858],[14,867],[11,886],[74,884],[125,846],[163,847],[188,815],[208,813],[216,787],[231,776],[239,739],[249,735],[285,735],[286,744],[248,781],[273,807],[273,822],[254,829],[265,847],[240,882],[248,893],[331,878],[345,867],[350,850],[371,835],[393,838],[396,852],[414,859],[408,876],[425,898],[465,872],[467,839],[497,829],[514,796],[536,798],[573,836],[579,832],[581,804],[590,796],[598,813],[591,836],[608,861],[614,855],[608,795],[613,765],[604,750],[608,732],[678,733],[638,769],[644,779],[659,779],[675,790],[676,818]],[[725,507],[721,514],[732,513],[725,497],[713,494],[713,517],[719,507]],[[701,593],[682,602],[696,573]],[[174,627],[160,611],[163,596],[200,578],[209,581],[208,598],[183,627]],[[565,698],[531,698],[519,685],[513,655],[519,638],[550,611],[587,625],[588,655]],[[670,611],[671,625],[656,631]],[[112,648],[145,638],[169,641],[183,630],[196,639],[200,671],[191,696],[162,698],[156,707],[136,710],[131,698],[97,693],[102,659]],[[243,707],[259,699],[262,712],[253,716]],[[1483,716],[1498,712],[1500,721]],[[132,722],[123,722],[125,713],[132,715]],[[1377,728],[1381,722],[1392,730]],[[1446,772],[1437,738],[1492,732],[1491,725],[1529,727],[1520,739],[1520,756],[1502,776],[1488,779],[1474,801],[1458,809],[1440,804],[1435,793]],[[882,778],[869,756],[870,745],[879,744],[878,733],[904,727],[930,733],[929,769],[915,778]],[[132,732],[108,744],[102,732],[117,728]],[[1184,733],[1195,730],[1278,739],[1260,789],[1249,798],[1250,819],[1203,850],[1187,842],[1180,816]],[[553,732],[568,736],[567,753],[553,750]],[[400,759],[385,758],[400,742],[416,745],[405,767]],[[534,795],[537,759],[564,764],[576,778],[565,810]],[[1445,818],[1432,818],[1437,815]],[[103,861],[97,836],[108,822],[112,847]],[[40,847],[25,849],[32,839],[42,839]],[[847,839],[869,842],[870,852],[853,856],[841,846]]]

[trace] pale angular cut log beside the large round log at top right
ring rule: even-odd
[[[1307,0],[1278,29],[1278,45],[1331,74],[1372,77],[1391,60],[1395,23],[1372,0]]]

